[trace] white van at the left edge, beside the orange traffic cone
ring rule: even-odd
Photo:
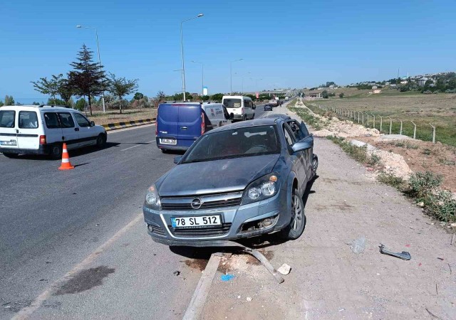
[[[104,146],[108,135],[102,126],[81,112],[53,105],[9,105],[0,107],[0,152],[9,158],[18,154],[62,156],[68,149]]]

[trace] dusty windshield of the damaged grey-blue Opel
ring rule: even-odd
[[[280,153],[276,128],[246,127],[205,134],[182,163]]]

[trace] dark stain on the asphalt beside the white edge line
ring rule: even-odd
[[[103,284],[105,277],[114,272],[114,268],[108,268],[104,265],[83,270],[63,284],[54,295],[74,294],[98,287]]]

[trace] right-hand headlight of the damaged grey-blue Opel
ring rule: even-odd
[[[279,191],[279,182],[276,174],[266,174],[247,186],[242,196],[242,205],[254,203],[275,196]]]

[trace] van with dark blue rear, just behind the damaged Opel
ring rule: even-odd
[[[157,147],[187,150],[204,132],[231,123],[221,103],[165,102],[158,106],[155,139]]]

